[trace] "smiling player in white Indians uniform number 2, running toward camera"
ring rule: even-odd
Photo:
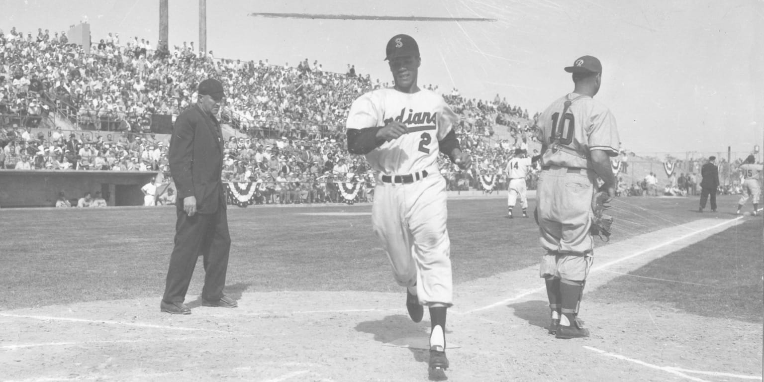
[[[356,99],[347,121],[348,151],[364,154],[379,172],[371,213],[374,233],[406,287],[413,322],[429,308],[429,366],[446,369],[445,316],[452,306],[450,241],[445,222],[445,179],[438,152],[466,169],[453,126],[458,117],[441,95],[416,84],[421,59],[413,37],[398,34],[387,42],[395,86]]]

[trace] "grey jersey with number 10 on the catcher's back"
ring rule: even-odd
[[[616,118],[601,102],[588,96],[577,99],[578,96],[570,93],[557,99],[539,117],[542,142],[547,146],[542,157],[545,166],[591,169],[589,151],[607,151],[611,157],[618,155],[620,138]],[[573,102],[561,117],[565,101]]]

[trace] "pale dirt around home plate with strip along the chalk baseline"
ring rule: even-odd
[[[597,249],[591,291],[740,224],[699,219]],[[455,287],[448,316],[452,367],[427,370],[403,293],[248,292],[237,309],[159,312],[160,296],[0,311],[0,377],[53,380],[253,381],[722,381],[762,380],[760,324],[694,316],[665,306],[586,302],[591,338],[557,340],[538,270],[526,267]],[[193,299],[193,300],[192,300]]]

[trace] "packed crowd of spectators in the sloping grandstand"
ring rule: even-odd
[[[169,138],[152,134],[151,119],[165,115],[171,121],[192,105],[199,82],[212,77],[226,89],[220,118],[241,135],[225,142],[226,181],[271,182],[279,188],[276,202],[291,202],[295,198],[283,196],[279,185],[373,179],[364,158],[346,150],[344,121],[358,95],[391,84],[356,73],[351,64],[346,73],[333,73],[307,58],[296,66],[228,60],[197,51],[193,42],[170,48],[115,33],[93,41],[89,52],[69,44],[63,31],[0,29],[0,168],[169,175]],[[529,116],[498,94],[478,100],[458,89],[425,87],[441,92],[461,116],[456,132],[475,163],[461,171],[441,158],[450,189],[483,189],[481,176],[502,189],[516,149],[539,154],[538,114]],[[72,128],[32,133],[51,115],[66,118]],[[537,171],[529,174],[531,189]],[[686,194],[697,184],[689,176],[670,180],[667,189],[648,177],[631,186],[624,182],[620,193]]]

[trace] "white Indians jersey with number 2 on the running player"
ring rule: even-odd
[[[437,166],[438,141],[452,130],[458,116],[431,90],[404,93],[377,89],[353,102],[346,127],[381,127],[390,120],[403,123],[409,132],[375,148],[366,154],[366,160],[382,173],[408,174]]]

